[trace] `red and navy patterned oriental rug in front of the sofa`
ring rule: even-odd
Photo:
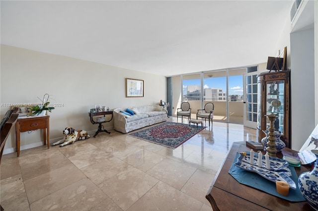
[[[204,128],[205,127],[201,126],[197,127],[196,125],[165,122],[154,127],[130,133],[129,135],[175,149]]]

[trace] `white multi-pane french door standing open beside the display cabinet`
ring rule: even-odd
[[[250,72],[243,75],[243,124],[245,127],[256,129],[257,126],[257,75]]]

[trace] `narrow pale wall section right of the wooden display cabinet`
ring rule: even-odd
[[[292,149],[300,150],[315,128],[314,28],[293,32],[291,39]]]

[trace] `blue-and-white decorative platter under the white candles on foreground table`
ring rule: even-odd
[[[279,158],[269,158],[270,170],[266,169],[265,156],[262,158],[262,167],[258,167],[258,154],[255,153],[253,156],[253,164],[249,163],[250,154],[246,152],[246,155],[243,156],[241,153],[238,153],[239,157],[237,162],[234,164],[239,168],[242,168],[247,171],[252,171],[258,173],[260,176],[268,179],[272,182],[284,181],[287,182],[290,188],[296,190],[296,183],[289,177],[291,176],[291,171],[287,166],[288,162]]]

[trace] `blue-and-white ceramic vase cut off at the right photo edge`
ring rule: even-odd
[[[309,205],[318,211],[318,150],[312,150],[312,153],[317,158],[315,167],[299,176],[298,187]]]

